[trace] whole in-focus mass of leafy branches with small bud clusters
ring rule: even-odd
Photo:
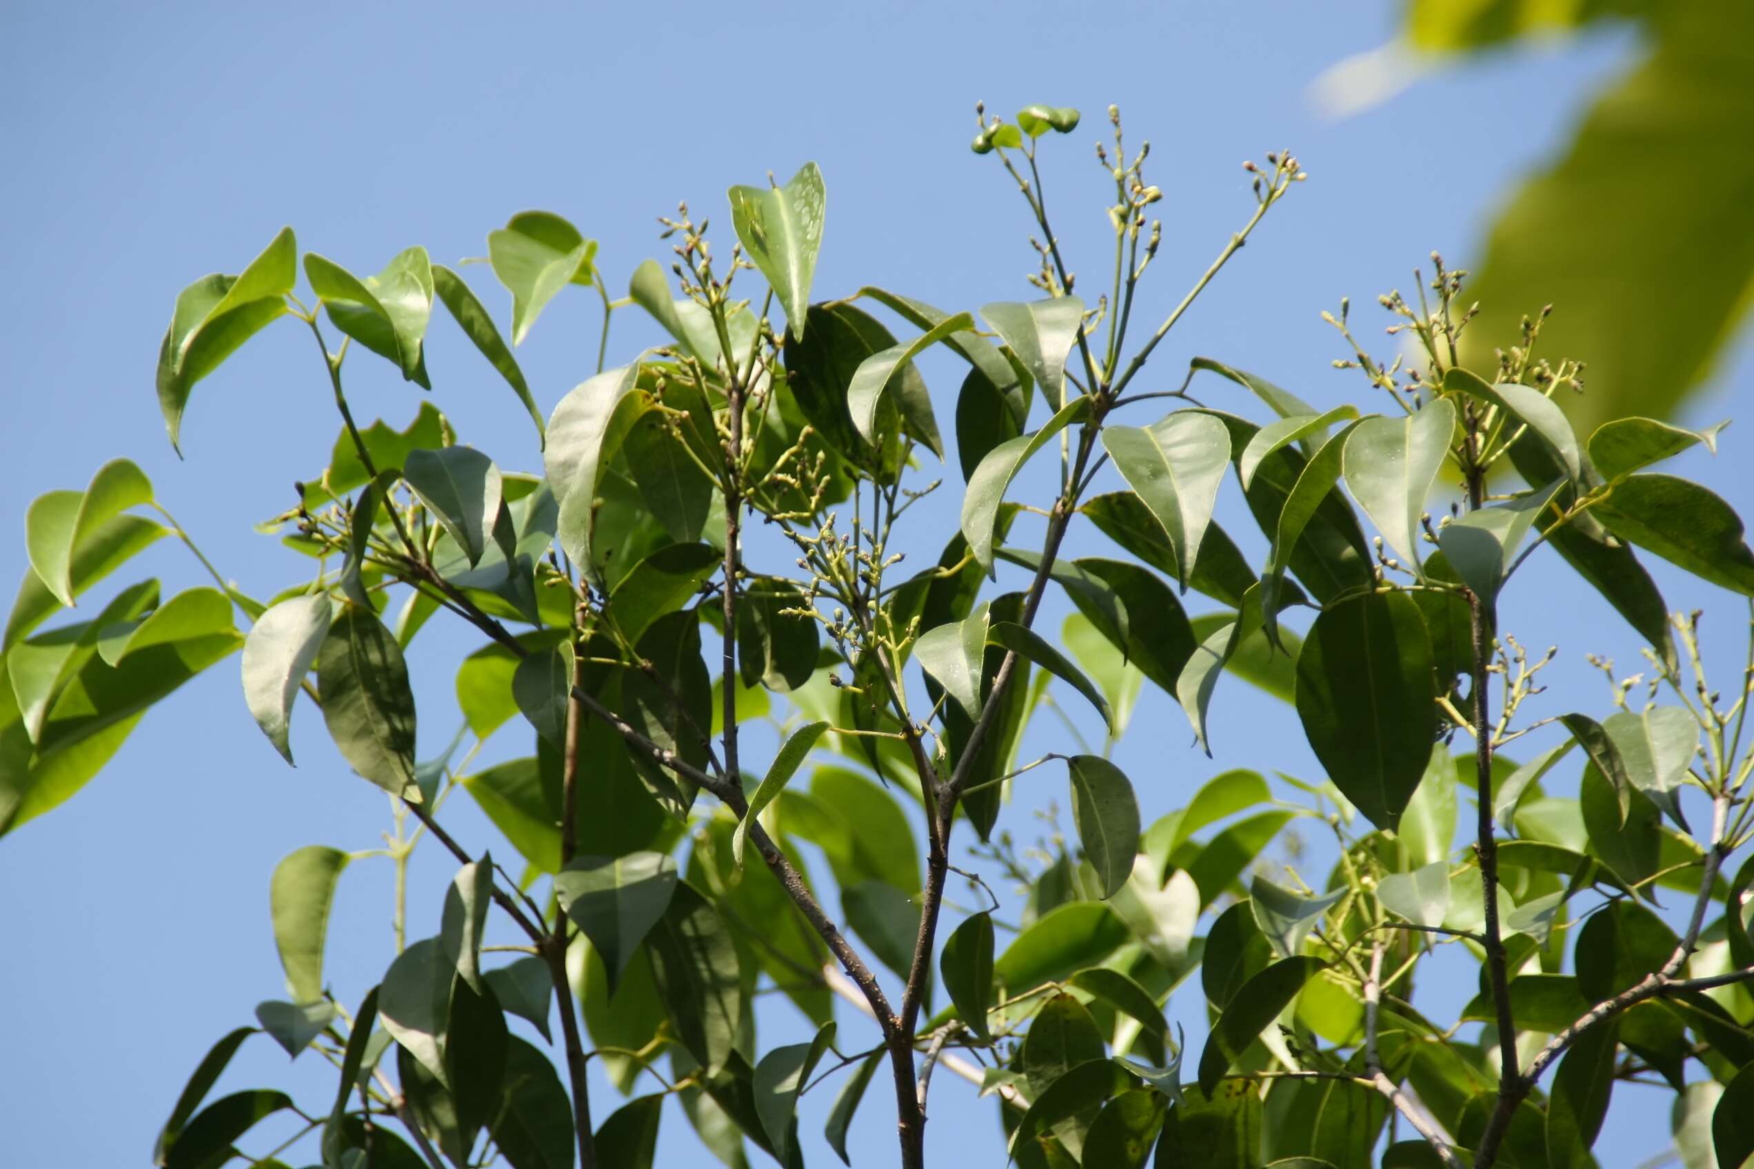
[[[1747,675],[1728,701],[1707,685],[1696,622],[1668,617],[1633,550],[1754,596],[1733,510],[1649,470],[1715,431],[1628,419],[1580,442],[1552,401],[1575,366],[1535,358],[1538,324],[1486,377],[1456,363],[1472,314],[1456,301],[1463,273],[1440,261],[1435,308],[1424,289],[1417,308],[1382,298],[1414,358],[1384,366],[1354,344],[1338,363],[1363,370],[1380,414],[1319,412],[1210,359],[1189,379],[1251,391],[1266,422],[1196,405],[1186,384],[1133,391],[1186,305],[1303,172],[1289,154],[1249,165],[1249,223],[1130,352],[1135,287],[1161,230],[1147,226],[1147,152],[1128,158],[1110,119],[1112,154],[1100,145],[1098,159],[1116,184],[1117,268],[1094,307],[1073,293],[1037,170],[1044,135],[1079,121],[1065,109],[982,121],[975,151],[998,156],[1045,242],[1044,298],[979,314],[873,287],[812,300],[826,205],[816,166],[782,188],[730,191],[728,268],[684,207],[667,221],[675,286],[647,261],[626,300],[609,296],[595,244],[572,224],[516,216],[489,235],[488,258],[512,294],[514,344],[572,284],[600,293],[605,321],[637,305],[672,337],[600,368],[547,419],[491,315],[423,249],[363,279],[307,252],[307,307],[284,231],[240,275],[182,293],[158,375],[174,442],[196,382],[251,335],[291,315],[319,344],[342,433],[277,517],[314,568],[268,603],[217,573],[219,587],[160,603],[149,580],[93,620],[37,633],[158,536],[188,540],[126,461],[84,492],[39,498],[32,571],[5,629],[0,825],[72,796],[147,706],[242,648],[247,708],[288,761],[303,696],[349,766],[388,792],[395,834],[374,852],[400,868],[431,838],[460,871],[430,938],[407,941],[398,892],[396,957],[351,1006],[324,978],[326,924],[346,868],[372,854],[309,847],[281,861],[272,917],[289,999],[263,1003],[258,1024],[291,1055],[335,1062],[335,1099],[310,1111],[263,1088],[205,1102],[258,1031],[239,1029],[191,1078],[160,1164],[221,1165],[286,1111],[303,1129],[253,1164],[279,1164],[319,1134],[323,1164],[347,1169],[649,1165],[660,1106],[677,1095],[728,1165],[744,1164],[745,1143],[800,1165],[798,1097],[835,1074],[826,1139],[851,1164],[847,1127],[884,1064],[903,1165],[924,1164],[940,1067],[995,1097],[1009,1157],[1031,1167],[1351,1169],[1384,1144],[1389,1165],[1584,1165],[1614,1085],[1652,1078],[1679,1095],[1684,1143],[1708,1129],[1726,1165],[1754,1150],[1754,999],[1742,985],[1754,976],[1742,911],[1754,866],[1722,878],[1754,829]],[[744,272],[765,279],[759,310],[733,291]],[[354,422],[351,345],[430,384],[435,298],[528,408],[540,475],[460,445],[430,405],[402,431]],[[339,349],[324,319],[346,337]],[[1333,324],[1351,342],[1347,319],[1342,305]],[[914,368],[935,345],[968,366],[954,422],[959,531],[935,564],[898,578],[921,543],[902,542],[900,521],[935,487],[910,484],[928,452],[945,452]],[[1154,422],[1112,421],[1165,400],[1175,408]],[[1009,499],[1056,445],[1058,494],[1045,507]],[[1524,485],[1487,496],[1500,468]],[[1212,519],[1231,470],[1268,543],[1259,571]],[[1105,471],[1110,489],[1096,491]],[[1461,498],[1433,521],[1428,498],[1445,475]],[[142,507],[163,522],[133,514]],[[744,531],[751,517],[766,543]],[[1016,535],[1026,517],[1042,521],[1028,547]],[[1063,557],[1082,521],[1117,554]],[[1544,545],[1651,641],[1649,705],[1628,703],[1628,680],[1601,720],[1519,719],[1545,661],[1498,631],[1498,599]],[[796,571],[775,570],[786,557]],[[1002,564],[1023,570],[1023,591],[988,594]],[[1037,629],[1049,589],[1075,608],[1059,645]],[[1189,591],[1217,608],[1189,613]],[[440,610],[486,643],[456,673],[463,727],[419,759],[403,652]],[[1287,610],[1314,612],[1301,634],[1280,620]],[[1145,682],[1180,703],[1203,743],[1224,671],[1294,706],[1326,778],[1287,780],[1300,799],[1284,801],[1259,773],[1228,771],[1144,825],[1109,748]],[[1019,764],[1056,682],[1100,715],[1107,741]],[[1654,701],[1659,689],[1673,701]],[[1521,766],[1500,754],[1547,722],[1563,724],[1563,743]],[[763,724],[781,745],[756,775],[740,759],[745,731]],[[531,754],[475,769],[507,727]],[[1458,738],[1466,754],[1452,754]],[[1549,794],[1573,745],[1580,794]],[[1007,792],[1058,764],[1077,843],[1037,871],[995,824]],[[458,789],[521,875],[444,827]],[[1475,829],[1456,848],[1470,799]],[[1028,899],[1007,924],[993,896],[940,945],[963,820]],[[1263,864],[1294,820],[1333,838],[1319,880]],[[812,876],[805,845],[826,873]],[[838,915],[819,901],[828,878]],[[1656,911],[1658,890],[1693,906],[1680,929]],[[484,950],[495,906],[519,945]],[[1003,948],[1002,929],[1014,932]],[[1440,946],[1480,966],[1480,995],[1451,1025],[1414,1004]],[[517,957],[489,966],[502,952]],[[752,1003],[766,988],[817,1027],[812,1041],[763,1050]],[[1177,992],[1209,1011],[1196,1060],[1165,1018]],[[861,1008],[872,1045],[842,1045],[837,999]],[[556,1017],[560,1069],[509,1024],[553,1043]],[[1472,1024],[1479,1034],[1458,1039]],[[593,1125],[589,1059],[623,1094],[644,1076],[660,1090]],[[1708,1081],[1689,1080],[1694,1064]],[[1415,1136],[1396,1139],[1401,1125]]]

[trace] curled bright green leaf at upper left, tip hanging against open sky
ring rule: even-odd
[[[177,296],[170,328],[158,347],[158,407],[174,449],[181,450],[182,410],[195,382],[284,315],[286,294],[296,280],[298,244],[291,228],[281,228],[242,273],[205,275]]]

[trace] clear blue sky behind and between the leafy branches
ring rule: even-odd
[[[1145,317],[1173,305],[1247,217],[1238,163],[1293,147],[1310,181],[1159,349],[1149,377],[1173,387],[1189,356],[1210,354],[1323,407],[1352,400],[1361,384],[1328,368],[1338,338],[1319,310],[1351,294],[1368,322],[1375,293],[1410,289],[1408,270],[1433,247],[1466,265],[1505,184],[1565,140],[1582,100],[1629,49],[1612,32],[1565,51],[1519,49],[1426,79],[1375,110],[1324,119],[1312,79],[1387,39],[1394,9],[1377,0],[1087,9],[11,0],[0,5],[0,529],[9,533],[0,578],[26,571],[30,498],[82,487],[116,456],[146,468],[160,499],[246,591],[268,596],[305,571],[251,524],[288,505],[293,480],[321,470],[337,431],[309,338],[275,326],[196,387],[188,461],[165,442],[153,393],[177,289],[205,272],[235,272],[282,224],[302,247],[374,272],[410,244],[444,261],[481,254],[512,212],[551,209],[602,240],[600,265],[619,289],[640,259],[667,254],[654,216],[679,198],[719,221],[723,247],[726,186],[761,182],[768,170],[784,179],[816,159],[830,193],[819,298],[861,284],[951,310],[1030,298],[1024,209],[995,159],[966,145],[977,98],[1005,114],[1030,102],[1084,109],[1086,126],[1044,159],[1072,265],[1091,275],[1107,263],[1105,179],[1089,156],[1103,107],[1117,102],[1130,131],[1152,140],[1165,244]],[[503,322],[509,296],[486,270],[468,275]],[[589,373],[596,314],[593,298],[563,296],[519,352],[544,410]],[[621,314],[610,361],[651,340],[647,324]],[[463,440],[502,466],[538,470],[528,421],[442,317],[428,365],[435,401]],[[356,412],[398,426],[412,417],[421,391],[386,363],[354,366]],[[951,372],[926,366],[945,421]],[[1743,347],[1694,415],[1745,410],[1750,373]],[[1254,410],[1226,393],[1212,387],[1210,400]],[[1724,436],[1724,457],[1694,456],[1682,470],[1750,514],[1740,431]],[[958,480],[954,463],[947,478]],[[1258,559],[1263,549],[1238,510],[1230,485],[1221,519],[1238,521],[1230,531]],[[921,543],[938,547],[954,515],[954,492],[940,492]],[[200,584],[168,542],[130,571],[116,584],[147,571],[167,592]],[[1736,624],[1728,596],[1659,575],[1672,605],[1712,606],[1721,631]],[[1554,591],[1558,580],[1533,561],[1507,626],[1561,645],[1556,703],[1600,706],[1582,654],[1636,661],[1636,647],[1580,584]],[[1058,622],[1051,610],[1045,627]],[[417,647],[421,748],[431,754],[456,726],[451,668],[474,640],[428,633]],[[1736,652],[1726,638],[1726,666]],[[1235,682],[1219,691],[1214,745],[1217,757],[1203,759],[1180,712],[1163,696],[1145,699],[1117,761],[1147,820],[1228,766],[1316,769],[1291,712]],[[347,773],[309,708],[295,720],[295,747],[302,766],[288,769],[244,710],[233,659],[149,715],[72,803],[0,840],[0,1160],[144,1164],[207,1046],[251,1022],[258,1001],[282,997],[267,917],[274,862],[307,843],[368,848],[388,827],[384,799]],[[484,759],[514,750],[523,743],[495,743]],[[1042,790],[1065,799],[1052,787],[1061,780],[1044,783],[1024,804],[1045,799]],[[1019,832],[1033,831],[1026,815],[1010,815]],[[491,840],[467,799],[446,817],[474,847]],[[449,873],[437,850],[416,854],[412,936],[437,931]],[[347,1003],[391,957],[389,885],[384,862],[344,876],[328,976]],[[1191,1031],[1198,1010],[1177,1003]],[[798,1034],[788,1011],[763,1008],[761,1025],[763,1048]],[[863,1041],[851,1038],[863,1034],[858,1025],[842,1011],[847,1043]],[[309,1053],[288,1071],[258,1039],[221,1087],[288,1085],[310,1101],[332,1090],[332,1074]],[[1615,1097],[1598,1146],[1608,1169],[1666,1143],[1666,1097],[1640,1092]],[[858,1120],[859,1165],[893,1158],[884,1094],[879,1080]],[[605,1116],[612,1090],[596,1080],[593,1097]],[[826,1090],[805,1101],[814,1164],[833,1158],[817,1137],[828,1102]],[[977,1106],[966,1085],[940,1076],[931,1116],[942,1164],[975,1150],[991,1164],[991,1102]],[[681,1115],[674,1122],[661,1164],[716,1164]]]

